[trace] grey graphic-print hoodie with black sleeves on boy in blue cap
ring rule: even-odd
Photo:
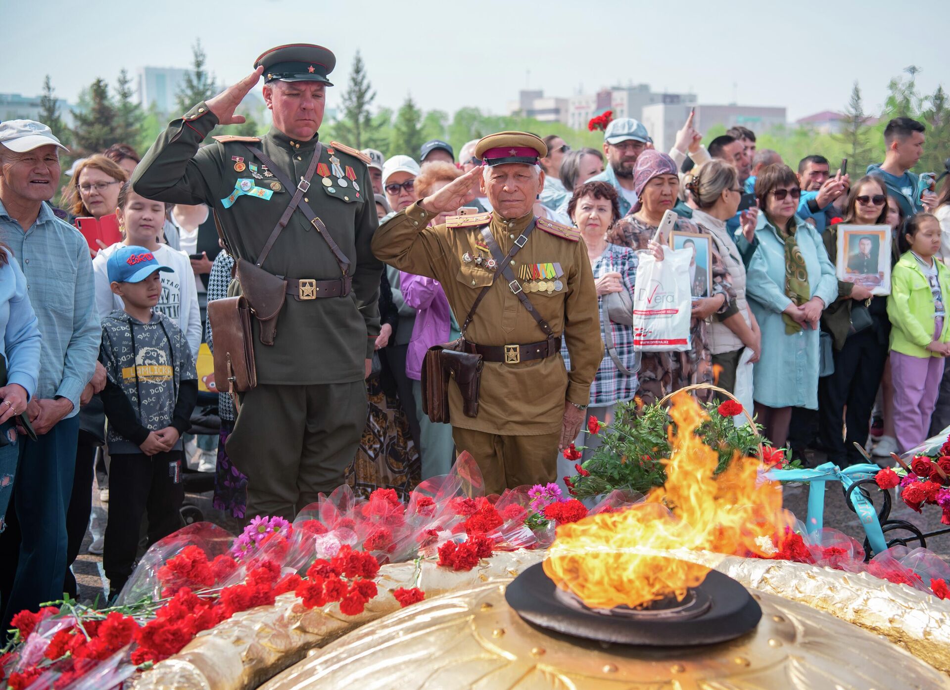
[[[153,311],[143,324],[116,309],[103,320],[99,361],[106,373],[102,397],[110,455],[142,453],[139,446],[148,434],[167,426],[179,435],[188,430],[198,401],[198,375],[174,321]],[[173,450],[181,447],[179,438]]]

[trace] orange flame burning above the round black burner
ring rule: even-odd
[[[664,486],[626,511],[558,527],[544,572],[587,606],[639,608],[671,596],[681,601],[709,568],[676,560],[669,550],[768,555],[772,538],[793,520],[782,511],[777,483],[756,485],[758,459],[734,457],[729,469],[712,476],[718,454],[694,433],[709,419],[696,401],[677,395],[670,417],[678,432],[671,428]]]

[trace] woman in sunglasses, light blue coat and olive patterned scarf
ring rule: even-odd
[[[818,321],[838,296],[834,264],[821,236],[795,215],[802,190],[787,165],[769,165],[755,180],[759,209],[746,295],[762,331],[755,364],[755,413],[776,447],[788,440],[792,407],[818,407]]]

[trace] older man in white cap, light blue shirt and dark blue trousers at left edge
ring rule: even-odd
[[[42,335],[39,380],[27,408],[37,439],[20,443],[9,529],[0,535],[2,629],[19,611],[63,595],[76,415],[104,385],[104,372],[93,379],[100,327],[89,249],[47,204],[59,187],[60,149],[66,147],[45,124],[0,124],[0,239],[26,276]]]

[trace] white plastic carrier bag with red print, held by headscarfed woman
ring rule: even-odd
[[[683,352],[690,349],[690,262],[693,252],[663,247],[662,261],[639,253],[634,295],[634,349]]]

